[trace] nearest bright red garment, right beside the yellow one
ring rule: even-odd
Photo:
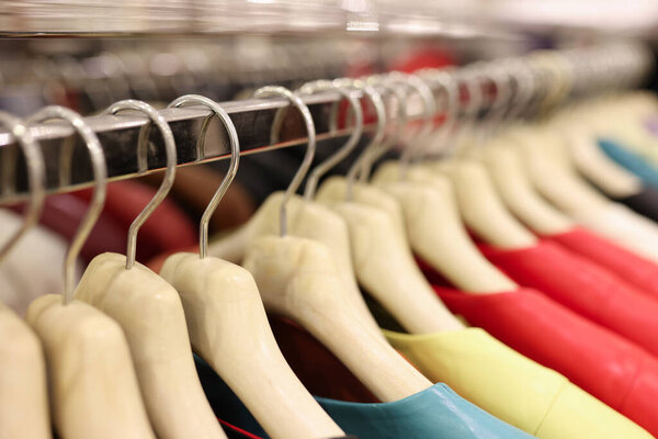
[[[658,360],[645,350],[531,289],[466,294],[435,285],[434,291],[469,324],[658,435]]]

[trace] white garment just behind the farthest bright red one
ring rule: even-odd
[[[658,262],[658,224],[620,203],[575,212],[571,217],[626,249]]]

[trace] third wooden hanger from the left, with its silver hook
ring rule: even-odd
[[[76,299],[101,309],[123,328],[146,409],[159,438],[226,438],[194,368],[178,292],[147,267],[135,262],[139,228],[173,184],[177,165],[173,134],[158,111],[141,101],[120,101],[104,113],[125,110],[145,113],[160,130],[167,172],[154,199],[131,224],[127,256],[105,252],[93,258],[76,290]],[[141,135],[137,153],[139,169],[146,168],[147,147],[148,136]]]

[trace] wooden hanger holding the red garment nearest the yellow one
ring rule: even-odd
[[[427,76],[427,74],[426,74]],[[449,133],[456,117],[457,88],[446,71],[433,72],[447,97],[443,133]],[[429,121],[435,110],[426,115]],[[433,139],[445,142],[443,136]],[[496,269],[479,252],[464,227],[450,181],[434,172],[415,166],[422,149],[402,156],[402,162],[382,164],[373,182],[386,189],[402,206],[407,235],[413,251],[460,289],[470,292],[509,291],[514,283]],[[405,164],[406,161],[406,164]],[[407,167],[406,173],[402,168]]]

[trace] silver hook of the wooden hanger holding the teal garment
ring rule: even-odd
[[[302,160],[302,165],[293,177],[293,180],[288,184],[285,193],[283,195],[283,200],[281,202],[281,236],[285,236],[287,234],[287,215],[286,215],[286,205],[291,196],[297,191],[299,184],[302,184],[302,180],[304,180],[304,176],[308,172],[308,168],[313,164],[313,157],[316,150],[316,133],[315,133],[315,124],[313,122],[313,116],[310,114],[310,110],[304,103],[302,98],[297,93],[292,92],[285,87],[280,86],[265,86],[256,90],[253,93],[256,98],[270,98],[270,97],[283,97],[290,101],[291,105],[294,105],[299,113],[302,113],[302,117],[304,117],[304,124],[306,125],[306,133],[308,136],[308,146],[306,147],[306,154],[304,155],[304,159]],[[271,138],[275,139],[279,136],[279,127],[275,131],[272,131]]]

